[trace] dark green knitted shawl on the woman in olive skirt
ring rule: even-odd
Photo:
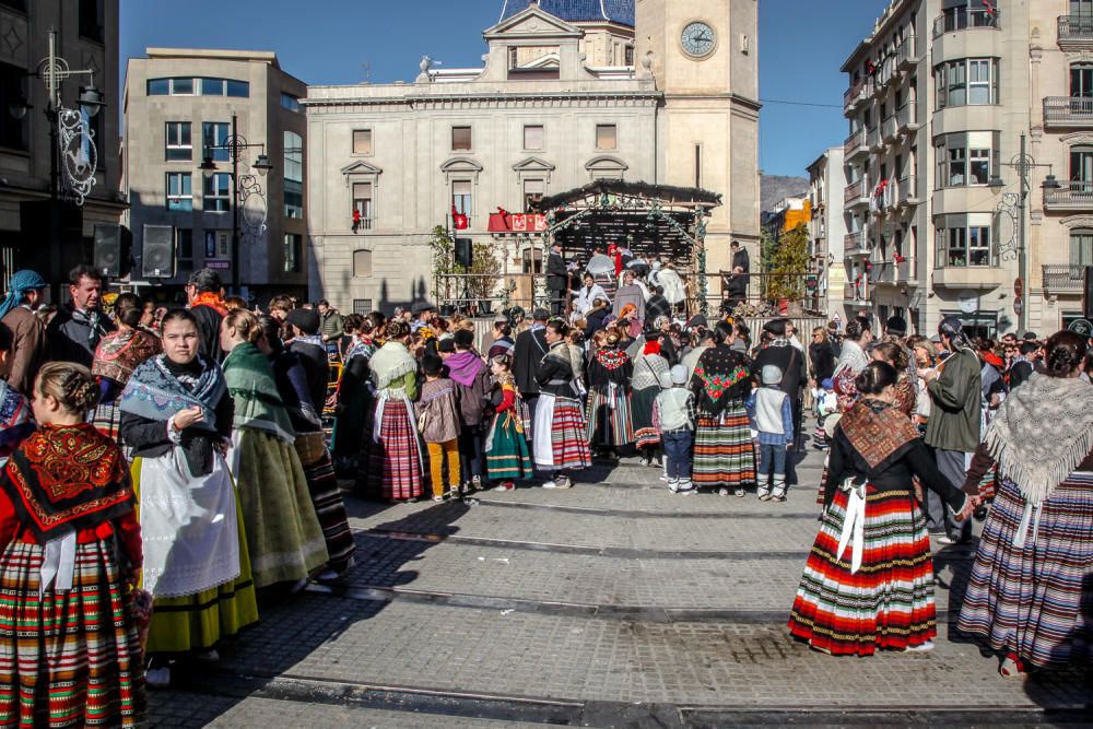
[[[265,431],[292,443],[296,432],[278,392],[273,367],[250,342],[237,344],[224,360],[227,391],[235,400],[235,427]]]

